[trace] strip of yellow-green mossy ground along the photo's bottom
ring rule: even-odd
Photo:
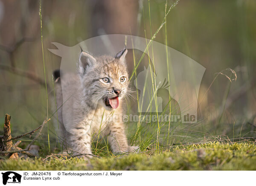
[[[1,170],[256,170],[256,144],[219,142],[172,148],[158,155],[1,160]]]

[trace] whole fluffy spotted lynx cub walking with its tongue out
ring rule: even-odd
[[[100,137],[108,137],[108,143],[114,153],[139,149],[128,145],[122,122],[99,120],[103,114],[108,118],[123,112],[122,101],[128,92],[126,53],[127,49],[124,49],[115,57],[93,57],[81,52],[77,75],[64,75],[60,79],[61,84],[58,81],[55,85],[62,137],[70,150],[76,154],[92,154],[91,139],[98,134]],[[55,71],[54,75],[57,78],[59,73]],[[66,87],[66,90],[72,90],[68,102],[62,102],[61,85]],[[68,104],[64,113],[62,104]],[[67,130],[67,124],[63,125],[64,117],[70,130]]]

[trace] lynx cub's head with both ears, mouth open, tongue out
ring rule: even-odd
[[[128,72],[125,64],[127,49],[120,51],[115,58],[100,56],[93,58],[81,53],[79,75],[84,97],[87,102],[99,103],[106,110],[119,108],[119,103],[128,91]],[[85,66],[82,62],[87,61]]]

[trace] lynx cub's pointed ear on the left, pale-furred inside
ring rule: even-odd
[[[87,66],[92,66],[96,62],[96,59],[87,52],[81,52],[79,56],[79,73],[84,75]]]

